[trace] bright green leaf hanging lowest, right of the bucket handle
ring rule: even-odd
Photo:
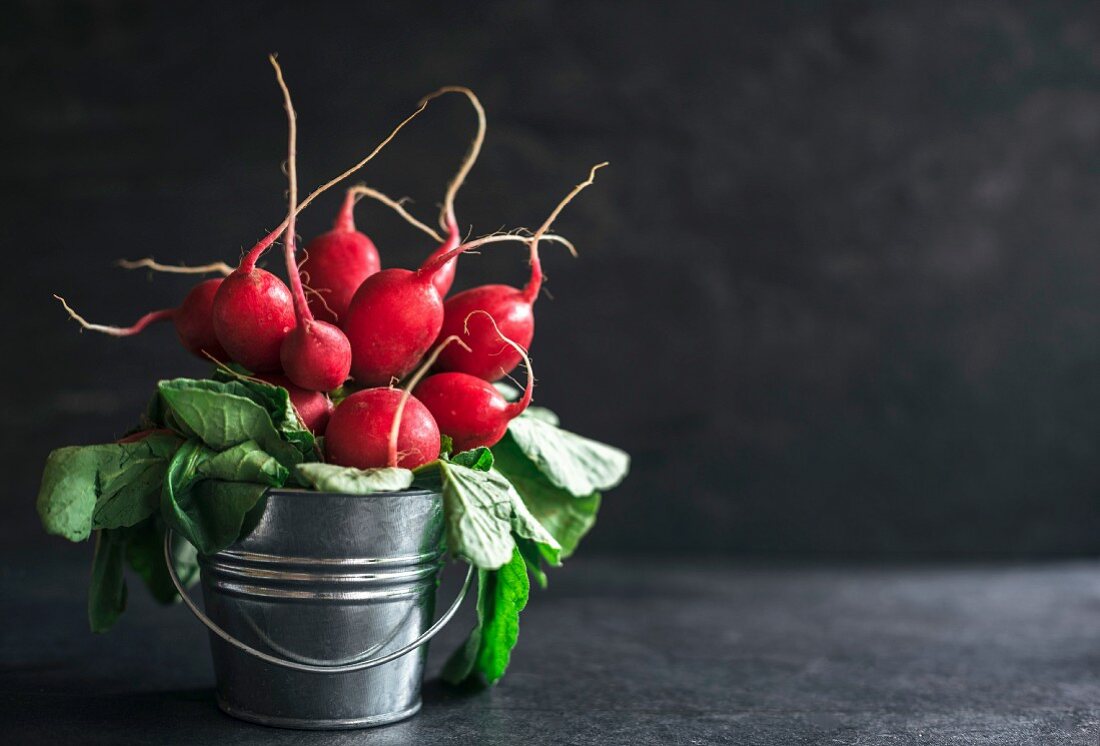
[[[527,605],[530,582],[519,550],[499,570],[477,572],[477,625],[443,666],[443,680],[458,684],[501,680],[519,638],[519,612]]]

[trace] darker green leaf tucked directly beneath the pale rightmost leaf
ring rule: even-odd
[[[561,545],[559,559],[568,558],[596,523],[600,493],[574,497],[566,490],[554,486],[508,439],[494,446],[493,453],[496,457],[495,469],[507,478],[535,519]],[[543,557],[554,563],[550,557]]]

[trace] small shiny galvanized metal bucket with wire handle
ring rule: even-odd
[[[165,537],[165,557],[170,535]],[[293,728],[358,728],[420,710],[443,555],[438,492],[274,490],[249,534],[200,559],[218,705]]]

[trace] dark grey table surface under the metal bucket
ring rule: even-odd
[[[0,562],[2,743],[1100,743],[1097,562],[578,558],[534,595],[495,689],[435,678],[468,604],[432,645],[420,715],[305,733],[217,710],[205,633],[182,606],[133,588],[123,621],[88,633],[86,551]]]

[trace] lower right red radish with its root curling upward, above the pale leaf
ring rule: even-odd
[[[485,311],[474,314],[488,316]],[[527,351],[501,333],[491,316],[488,323],[527,365],[527,386],[519,401],[508,402],[493,384],[469,373],[436,373],[413,391],[436,418],[440,432],[454,442],[455,452],[469,451],[479,446],[495,446],[504,437],[508,423],[531,403],[535,379]]]

